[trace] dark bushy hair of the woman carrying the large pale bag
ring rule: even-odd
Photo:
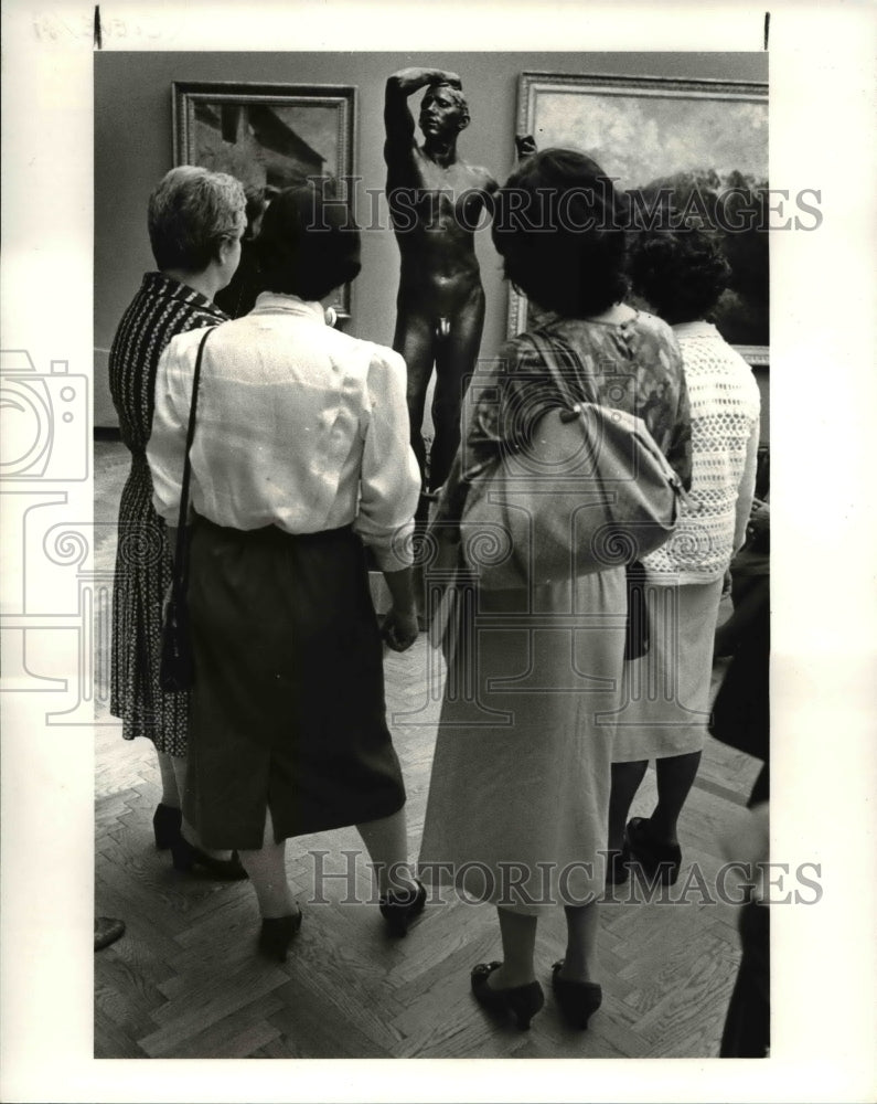
[[[628,204],[600,166],[573,149],[528,157],[499,191],[493,244],[506,279],[566,318],[622,299]]]

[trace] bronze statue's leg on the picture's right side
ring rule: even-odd
[[[475,288],[451,319],[450,332],[436,348],[432,423],[436,437],[429,457],[430,489],[448,478],[460,445],[460,410],[475,369],[484,328],[484,293]]]

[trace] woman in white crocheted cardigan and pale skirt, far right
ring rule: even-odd
[[[723,581],[752,502],[760,397],[749,365],[705,321],[729,275],[714,234],[699,226],[642,233],[631,270],[635,289],[673,326],[682,351],[692,488],[673,538],[644,561],[651,646],[625,665],[612,753],[610,881],[627,880],[632,858],[673,884],[682,861],[677,821],[706,734]],[[649,760],[656,761],[657,804],[625,827]]]

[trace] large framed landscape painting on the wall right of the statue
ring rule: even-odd
[[[750,364],[768,364],[767,84],[523,73],[516,132],[590,155],[645,210],[661,193],[676,210],[720,211],[731,277],[713,320]],[[510,336],[528,310],[512,291]]]

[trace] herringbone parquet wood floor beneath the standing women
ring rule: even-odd
[[[95,520],[113,520],[127,463],[118,444],[98,443]],[[98,550],[111,564],[113,540]],[[408,788],[416,857],[438,714],[426,677],[435,666],[425,637],[385,662],[394,742]],[[104,664],[98,670],[105,670]],[[706,1058],[718,1053],[739,962],[735,910],[704,903],[600,905],[598,954],[603,1007],[587,1032],[568,1029],[548,998],[533,1029],[485,1017],[468,988],[469,968],[499,957],[493,910],[447,895],[405,940],[384,932],[374,903],[346,903],[349,877],[371,893],[353,829],[291,840],[288,873],[304,905],[289,959],[256,956],[257,912],[246,882],[217,883],[175,872],[154,849],[151,817],[158,772],[146,741],[121,740],[98,701],[95,777],[96,910],[121,916],[127,933],[95,955],[96,1058]],[[410,723],[411,715],[417,723]],[[712,887],[719,836],[745,816],[758,764],[709,741],[681,836]],[[633,813],[654,797],[650,774]],[[317,852],[327,852],[322,860]],[[313,896],[315,862],[339,877]],[[349,875],[349,877],[347,877]],[[674,890],[680,896],[685,871]],[[564,948],[562,910],[539,923],[537,956],[547,983]]]

